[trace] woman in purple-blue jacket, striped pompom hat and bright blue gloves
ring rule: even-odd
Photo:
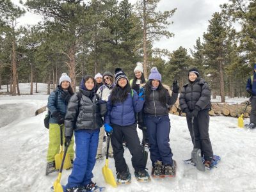
[[[143,148],[140,145],[135,119],[135,114],[143,108],[144,95],[143,92],[138,95],[135,90],[131,89],[128,78],[121,68],[116,68],[115,79],[116,86],[109,95],[104,127],[111,137],[117,183],[123,184],[131,180],[131,173],[124,159],[123,137],[132,155],[132,166],[136,178],[148,181],[150,176],[145,170],[146,163],[143,160]]]

